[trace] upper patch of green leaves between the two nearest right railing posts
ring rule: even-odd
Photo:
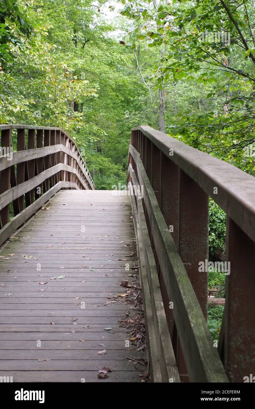
[[[209,200],[209,259],[222,260],[225,254],[226,213]]]

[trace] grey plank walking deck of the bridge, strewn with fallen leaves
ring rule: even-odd
[[[130,279],[124,264],[136,256],[131,216],[128,196],[62,190],[3,247],[1,376],[13,382],[140,379],[146,367],[127,357],[142,354],[125,346],[129,330],[119,326],[132,311],[117,296],[126,292],[122,279]],[[103,367],[113,369],[107,379],[97,377]]]

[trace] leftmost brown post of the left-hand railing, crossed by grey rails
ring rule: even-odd
[[[2,153],[10,152],[11,146],[11,128],[4,129],[1,133],[1,148]],[[10,188],[10,168],[6,168],[0,172],[0,194]],[[9,205],[2,208],[0,211],[2,227],[9,222]]]

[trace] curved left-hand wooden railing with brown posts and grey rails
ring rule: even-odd
[[[95,186],[75,142],[61,128],[0,125],[0,131],[1,245],[59,189]],[[11,221],[10,203],[14,213]]]

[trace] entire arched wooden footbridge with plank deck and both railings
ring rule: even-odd
[[[127,191],[97,191],[60,128],[0,130],[1,379],[139,382],[147,366],[152,382],[243,382],[255,373],[252,176],[140,126]],[[199,272],[208,197],[227,213],[231,266],[217,347]],[[130,329],[143,319],[127,301],[139,283],[147,351],[136,351]]]

